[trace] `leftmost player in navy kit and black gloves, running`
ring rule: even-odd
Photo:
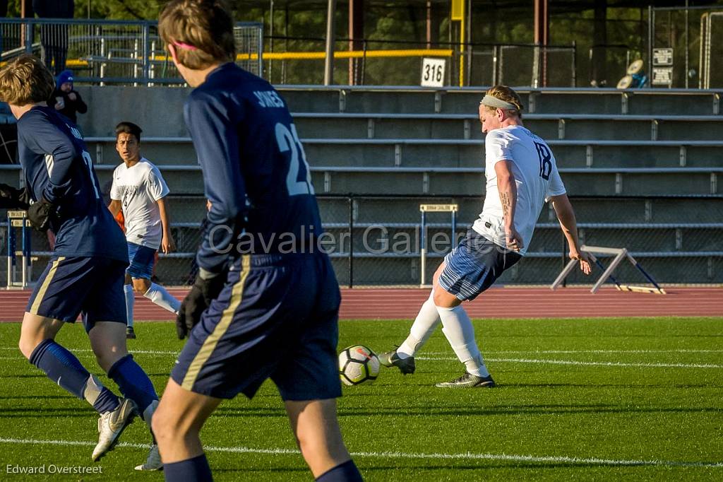
[[[19,56],[0,70],[0,98],[17,118],[20,164],[33,201],[27,218],[36,229],[51,229],[56,236],[22,318],[20,351],[54,383],[100,413],[100,437],[93,449],[97,461],[113,449],[134,415],[140,413],[150,424],[158,397],[126,349],[123,277],[128,255],[123,234],[103,205],[80,132],[46,105],[53,88],[51,73],[31,55]],[[17,206],[28,201],[20,195],[15,200]],[[55,342],[61,327],[80,314],[98,364],[125,398],[119,399]],[[158,462],[153,468],[160,467],[155,445],[149,461],[154,458]]]

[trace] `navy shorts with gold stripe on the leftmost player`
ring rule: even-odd
[[[85,331],[97,321],[126,323],[123,292],[126,263],[110,258],[52,256],[27,312],[74,323],[82,314]]]

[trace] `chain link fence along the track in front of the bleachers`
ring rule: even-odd
[[[463,237],[482,210],[477,196],[364,196],[320,195],[324,248],[343,286],[415,286],[429,283],[437,266]],[[578,219],[581,243],[627,248],[657,282],[723,283],[723,197],[585,197],[571,198]],[[422,229],[419,206],[456,204],[453,237],[449,212],[427,213]],[[160,255],[155,269],[159,282],[189,284],[197,267],[194,254],[200,245],[205,199],[168,197],[171,231],[177,251]],[[4,213],[3,219],[4,219]],[[11,253],[20,250],[20,232]],[[7,223],[0,241],[7,254]],[[422,239],[427,248],[422,278]],[[50,255],[45,234],[32,233],[36,279]],[[505,284],[550,284],[568,261],[568,248],[552,208],[542,211],[528,253],[503,274]],[[609,259],[599,256],[603,265]],[[18,261],[19,262],[19,261]],[[7,279],[7,263],[0,263],[0,279]],[[596,268],[596,276],[602,269]],[[645,283],[640,272],[623,263],[615,277],[625,283]],[[591,284],[595,277],[573,272],[570,283]]]

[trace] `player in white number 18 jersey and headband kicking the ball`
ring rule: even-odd
[[[432,293],[396,349],[380,355],[383,365],[414,373],[414,355],[442,323],[465,373],[439,383],[440,388],[492,387],[495,381],[484,365],[474,328],[461,307],[492,286],[503,271],[520,261],[532,239],[542,206],[552,201],[560,227],[570,245],[570,258],[590,274],[590,258],[580,250],[575,213],[547,143],[522,124],[522,102],[509,87],[497,85],[479,105],[484,141],[487,196],[479,219],[466,237],[445,257],[433,280]]]

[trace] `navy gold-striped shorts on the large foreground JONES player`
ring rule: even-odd
[[[244,255],[203,313],[171,378],[216,398],[271,379],[284,400],[341,397],[339,287],[327,255]]]

